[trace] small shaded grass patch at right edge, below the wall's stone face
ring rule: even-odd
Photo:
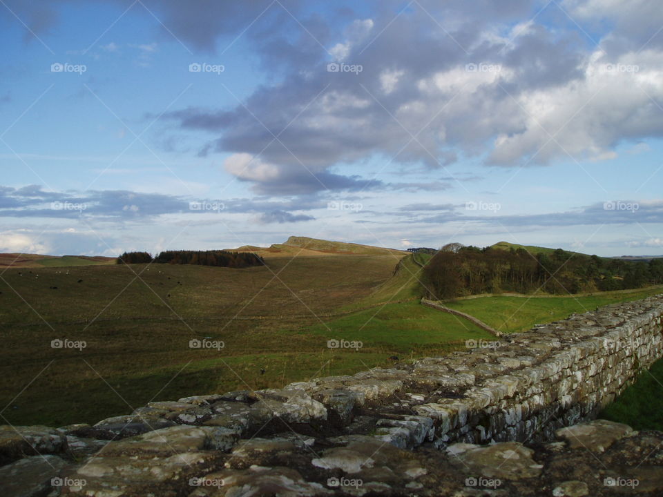
[[[623,422],[636,430],[663,431],[663,359],[640,373],[637,381],[627,387],[615,402],[606,407],[599,418]]]

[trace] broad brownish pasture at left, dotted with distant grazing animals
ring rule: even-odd
[[[7,269],[0,278],[0,404],[10,407],[0,422],[96,422],[153,399],[280,387],[385,365],[392,348],[330,351],[327,338],[301,331],[369,295],[396,262],[343,255],[273,258],[249,269]],[[223,340],[224,349],[189,348],[189,340],[206,336]],[[52,349],[55,338],[87,346]]]

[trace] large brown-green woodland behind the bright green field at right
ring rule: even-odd
[[[424,269],[428,296],[448,300],[478,293],[544,291],[552,294],[635,289],[663,284],[663,260],[634,262],[557,249],[460,246],[441,250]]]

